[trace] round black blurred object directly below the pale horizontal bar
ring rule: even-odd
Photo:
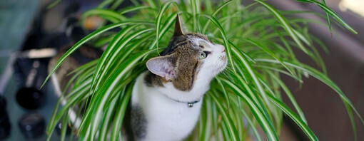
[[[20,88],[16,93],[16,101],[21,107],[28,110],[34,110],[44,105],[45,97],[44,93],[34,87]]]

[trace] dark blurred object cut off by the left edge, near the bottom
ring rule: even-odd
[[[0,94],[0,140],[10,135],[9,115],[6,112],[6,99]]]

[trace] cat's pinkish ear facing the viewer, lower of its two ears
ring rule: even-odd
[[[166,80],[174,80],[177,77],[171,56],[151,58],[146,62],[146,68],[148,68],[151,73],[159,75]]]

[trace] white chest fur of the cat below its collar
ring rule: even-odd
[[[183,140],[196,125],[202,99],[189,108],[187,103],[179,103],[163,95],[161,90],[146,86],[144,76],[145,73],[137,78],[131,96],[132,107],[139,106],[146,120],[145,126],[141,126],[146,129],[139,140]],[[140,130],[140,126],[136,128]]]

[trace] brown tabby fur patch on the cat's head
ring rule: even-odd
[[[179,16],[177,17],[174,30],[173,37],[171,38],[168,47],[158,58],[163,58],[171,62],[171,65],[174,68],[172,73],[175,73],[176,77],[171,80],[166,80],[166,78],[149,72],[146,75],[145,81],[148,86],[163,86],[163,82],[171,81],[176,89],[189,91],[193,86],[193,80],[202,64],[202,61],[198,60],[202,48],[193,44],[191,40],[193,38],[201,38],[206,41],[209,40],[206,36],[199,33],[184,34]]]

